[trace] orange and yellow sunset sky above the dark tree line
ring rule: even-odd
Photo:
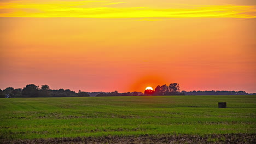
[[[256,93],[256,1],[0,1],[0,88]]]

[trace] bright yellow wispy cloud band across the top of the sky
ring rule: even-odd
[[[119,6],[121,4],[121,6]],[[255,18],[255,5],[182,5],[175,8],[128,7],[116,1],[9,1],[0,2],[0,17],[87,18]],[[115,5],[115,7],[112,7]]]

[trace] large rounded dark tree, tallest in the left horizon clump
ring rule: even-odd
[[[34,84],[27,85],[22,89],[21,93],[24,97],[39,97],[39,86]]]

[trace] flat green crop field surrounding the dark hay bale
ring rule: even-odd
[[[218,102],[227,108],[219,109]],[[255,131],[255,95],[0,99],[0,141],[5,142],[232,134],[249,135],[245,141],[253,143]]]

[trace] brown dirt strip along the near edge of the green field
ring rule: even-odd
[[[256,143],[256,134],[62,137],[34,140],[0,140],[0,143]]]

